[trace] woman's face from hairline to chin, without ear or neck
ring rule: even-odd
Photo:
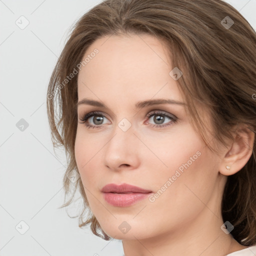
[[[105,233],[142,239],[176,236],[191,225],[200,228],[205,218],[214,224],[225,176],[218,172],[219,157],[192,128],[174,79],[177,69],[170,73],[174,67],[163,45],[151,35],[112,35],[96,40],[86,56],[78,74],[78,101],[105,107],[78,104],[75,159],[89,206]],[[173,102],[138,104],[157,99]],[[131,192],[108,193],[113,201],[107,201],[101,189],[109,183],[151,192],[139,200]]]

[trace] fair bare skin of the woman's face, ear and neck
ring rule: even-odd
[[[185,103],[177,81],[169,75],[173,67],[166,49],[157,38],[104,36],[84,57],[95,48],[98,54],[78,74],[78,101],[98,100],[109,109],[78,105],[75,159],[90,209],[104,232],[122,240],[125,256],[216,256],[246,248],[221,230],[220,203],[227,175],[241,169],[251,155],[254,133],[243,129],[230,146],[219,146],[217,155],[193,129],[184,105],[136,109],[136,102],[151,98]],[[148,119],[146,115],[154,110],[175,115],[177,121],[164,117],[156,122],[157,114]],[[105,117],[96,123],[90,117],[86,123],[101,127],[87,128],[81,121],[91,111]],[[123,118],[131,124],[127,131],[118,126]],[[171,125],[153,127],[166,123]],[[108,183],[125,182],[156,193],[197,151],[200,156],[154,202],[146,198],[116,207],[100,192]],[[123,221],[130,226],[125,234],[118,228]]]

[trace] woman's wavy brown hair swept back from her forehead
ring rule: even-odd
[[[121,33],[147,33],[166,43],[172,66],[183,72],[177,83],[203,139],[205,123],[196,104],[209,111],[216,141],[231,139],[238,123],[256,130],[256,34],[231,5],[222,0],[105,0],[91,8],[75,23],[52,72],[47,114],[53,146],[63,146],[68,159],[65,199],[72,193],[61,207],[72,202],[79,187],[83,198],[79,227],[90,223],[92,232],[105,240],[110,237],[90,211],[81,179],[72,186],[67,178],[77,170],[77,75],[65,79],[96,39]],[[255,147],[254,143],[245,166],[227,177],[222,197],[223,220],[233,224],[231,234],[243,245],[256,243]],[[86,221],[85,209],[89,209]]]

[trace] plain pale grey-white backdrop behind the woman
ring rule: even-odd
[[[68,29],[99,2],[0,0],[1,256],[123,254],[121,240],[105,241],[58,209],[66,159],[54,154],[46,115],[49,77]],[[227,2],[256,30],[256,0]]]

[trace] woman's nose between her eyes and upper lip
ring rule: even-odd
[[[137,168],[141,142],[134,134],[132,125],[126,131],[120,127],[116,124],[112,136],[104,146],[104,164],[115,171]]]

